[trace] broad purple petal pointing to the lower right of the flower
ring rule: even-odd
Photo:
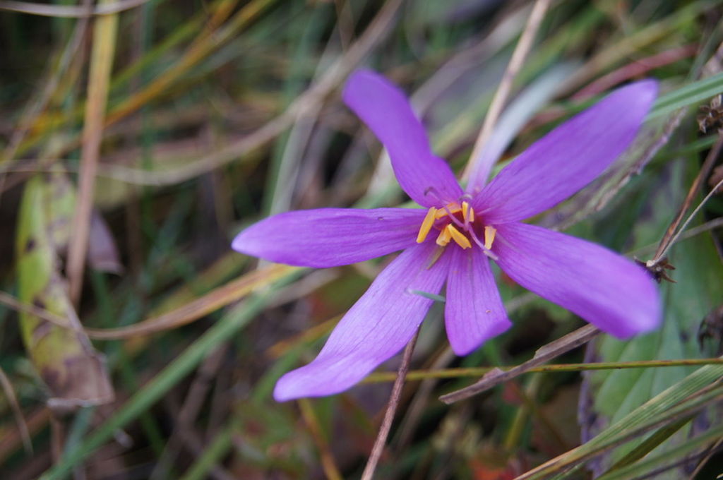
[[[562,305],[618,338],[660,325],[651,276],[621,255],[538,226],[497,228],[497,264],[521,286]]]

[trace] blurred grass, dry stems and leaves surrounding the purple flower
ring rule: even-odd
[[[405,202],[341,103],[360,67],[403,86],[461,173],[532,7],[0,0],[3,479],[359,478],[393,375],[330,398],[270,393],[388,259],[312,271],[260,264],[230,241],[285,210]],[[713,0],[544,12],[495,131],[510,141],[502,163],[613,87],[653,77],[662,96],[625,158],[536,222],[645,261],[676,213],[713,193],[667,252],[664,327],[601,336],[553,364],[721,353],[723,112],[710,102],[723,91],[722,12]],[[714,361],[552,365],[438,400],[484,373],[448,369],[520,364],[583,325],[496,273],[514,327],[457,358],[432,309],[412,360],[424,372],[403,390],[379,478],[723,473]]]

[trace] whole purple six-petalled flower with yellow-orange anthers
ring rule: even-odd
[[[353,74],[344,101],[387,148],[402,189],[426,209],[300,210],[236,236],[241,253],[307,267],[403,250],[319,356],[281,377],[276,400],[330,395],[359,382],[408,343],[432,305],[424,293],[440,293],[445,282],[455,353],[466,355],[504,332],[510,320],[490,259],[521,286],[618,338],[657,327],[658,293],[645,270],[603,247],[521,223],[585,187],[623,153],[656,92],[650,80],[616,90],[535,142],[489,184],[473,176],[465,191],[430,150],[403,93],[374,72]]]

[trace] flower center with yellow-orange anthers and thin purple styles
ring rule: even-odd
[[[454,241],[463,249],[472,248],[472,244],[490,254],[489,249],[495,241],[497,229],[492,226],[482,225],[482,220],[475,218],[474,210],[468,202],[450,203],[442,208],[431,207],[422,220],[419,233],[416,236],[416,243],[421,244],[429,232],[435,228],[440,233],[437,235],[437,245],[446,247],[450,241]],[[479,239],[482,236],[484,242]]]

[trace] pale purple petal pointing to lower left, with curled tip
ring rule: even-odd
[[[432,267],[436,245],[428,241],[402,252],[369,286],[331,333],[312,363],[285,374],[274,398],[331,395],[346,390],[400,351],[414,336],[447,277],[447,255]]]

